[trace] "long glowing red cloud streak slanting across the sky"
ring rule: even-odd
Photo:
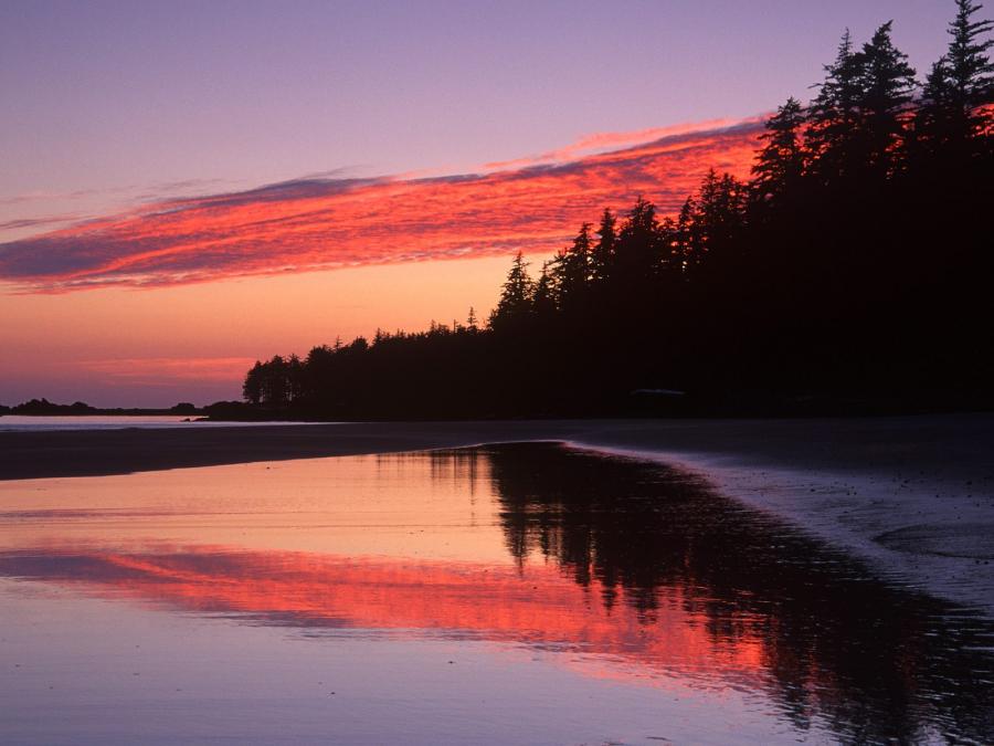
[[[0,244],[0,279],[44,293],[550,252],[604,207],[645,195],[672,212],[709,167],[745,172],[760,129],[748,119],[600,134],[480,174],[317,177],[159,200]]]

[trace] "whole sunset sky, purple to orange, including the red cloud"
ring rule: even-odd
[[[846,28],[893,19],[923,73],[952,13],[6,0],[0,403],[208,403],[256,358],[485,317],[514,252],[747,174]]]

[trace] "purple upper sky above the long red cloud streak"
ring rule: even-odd
[[[463,171],[593,132],[748,116],[804,96],[846,25],[863,40],[895,18],[926,69],[952,10],[7,0],[0,223],[315,172]]]

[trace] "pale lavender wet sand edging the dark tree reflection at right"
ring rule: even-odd
[[[818,543],[866,561],[893,585],[994,619],[994,496],[990,480],[979,490],[967,484],[969,480],[941,479],[923,471],[924,476],[910,480],[886,473],[757,467],[704,453],[567,444],[684,471]],[[937,488],[940,492],[934,492]]]

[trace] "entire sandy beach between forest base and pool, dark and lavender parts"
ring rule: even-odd
[[[562,440],[679,464],[913,585],[994,613],[994,414],[0,432],[0,479],[518,440]]]

